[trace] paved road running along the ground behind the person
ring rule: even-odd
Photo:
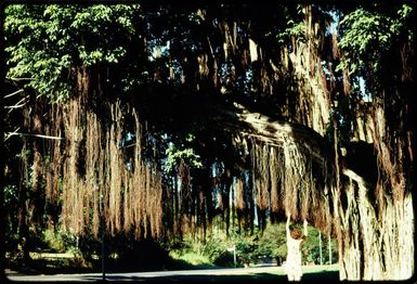
[[[313,273],[312,269],[304,268],[305,275]],[[316,273],[317,269],[314,270]],[[323,271],[336,274],[335,268],[323,268]],[[55,274],[55,275],[23,275],[18,273],[8,274],[9,280],[18,282],[97,282],[103,280],[101,273],[88,274]],[[221,269],[200,269],[200,270],[178,270],[178,271],[154,271],[154,272],[131,272],[131,273],[106,273],[105,280],[108,282],[218,282],[218,281],[275,281],[285,280],[282,267],[253,267],[253,268],[221,268]]]

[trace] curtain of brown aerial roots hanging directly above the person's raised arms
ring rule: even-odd
[[[258,144],[256,144],[258,143]],[[325,232],[331,230],[330,204],[327,196],[327,166],[323,160],[302,153],[297,144],[282,147],[252,141],[250,150],[256,204],[272,212],[288,212],[294,220],[308,219]],[[240,183],[236,184],[237,208],[244,208]],[[265,190],[266,189],[266,190]]]

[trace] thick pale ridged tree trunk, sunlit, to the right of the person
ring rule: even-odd
[[[344,170],[340,206],[339,264],[341,280],[406,280],[414,271],[412,194],[387,198],[381,216],[374,193],[355,172]],[[387,196],[386,196],[387,197]]]

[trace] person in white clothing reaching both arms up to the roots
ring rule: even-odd
[[[301,233],[298,229],[290,229],[290,215],[287,216],[287,261],[285,272],[288,281],[300,281],[302,276],[301,271],[301,245],[307,241],[308,230],[307,220],[304,220],[304,232]]]

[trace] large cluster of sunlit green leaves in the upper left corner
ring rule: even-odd
[[[30,5],[5,9],[8,77],[28,78],[28,87],[51,102],[69,98],[77,66],[126,60],[120,46],[138,36],[139,5]]]

